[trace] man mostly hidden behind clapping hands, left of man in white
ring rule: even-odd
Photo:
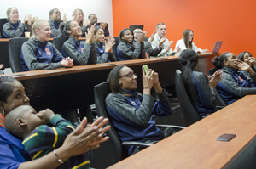
[[[160,52],[161,52],[161,49],[160,47],[155,47],[155,48],[152,48],[152,45],[151,43],[154,41],[154,34],[155,34],[156,31],[154,31],[154,33],[151,35],[151,37],[148,39],[147,42],[144,42],[144,48],[148,54],[149,57],[152,57],[152,56],[157,56]],[[134,42],[137,42],[137,37],[139,37],[141,34],[143,33],[143,30],[141,29],[135,29],[133,31],[133,35],[134,35]],[[159,46],[162,46],[162,43],[164,41],[161,41]]]

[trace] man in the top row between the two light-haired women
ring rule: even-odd
[[[49,11],[49,26],[51,35],[50,37],[60,37],[61,30],[59,29],[61,24],[61,12],[58,8],[51,9]],[[63,22],[67,22],[66,14],[63,16]]]

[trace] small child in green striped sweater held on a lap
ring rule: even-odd
[[[48,127],[51,123],[55,127]],[[11,110],[5,118],[6,131],[16,138],[23,139],[22,144],[32,160],[36,160],[52,151],[58,157],[55,149],[61,147],[65,138],[73,132],[72,124],[46,109],[36,112],[29,105],[21,105]],[[58,157],[59,158],[59,157]],[[90,161],[85,155],[77,155],[62,162],[58,168],[89,168]]]

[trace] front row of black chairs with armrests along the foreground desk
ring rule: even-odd
[[[209,70],[209,74],[213,74],[216,70],[216,68],[213,68],[212,70]],[[185,121],[187,122],[187,125],[192,125],[196,121],[200,121],[201,118],[195,111],[193,105],[189,101],[188,94],[186,93],[184,83],[183,83],[183,76],[182,72],[180,70],[176,70],[176,76],[175,76],[175,87],[176,87],[176,93],[177,93],[177,99],[180,104],[181,110],[183,112],[183,116],[185,118]],[[221,105],[221,107],[224,107],[224,101],[220,98],[217,91],[214,91],[216,94],[216,99],[218,101],[218,104]],[[106,110],[105,106],[105,98],[108,96],[108,94],[111,93],[111,90],[109,88],[108,82],[102,82],[99,85],[96,85],[94,87],[94,97],[95,97],[95,104],[96,104],[96,112],[97,115],[101,115],[105,118],[108,118],[108,110]],[[142,144],[137,142],[123,142],[121,143],[119,136],[117,132],[115,131],[115,128],[113,127],[113,124],[111,121],[108,121],[108,125],[111,126],[111,129],[107,132],[110,142],[113,145],[114,150],[114,159],[115,162],[121,161],[127,157],[127,154],[125,153],[125,149],[123,148],[123,145],[141,145],[141,146],[150,146],[151,144]],[[165,127],[166,125],[157,125],[158,127]],[[166,126],[170,127],[170,126]],[[171,126],[174,128],[183,129],[184,127],[179,126]]]

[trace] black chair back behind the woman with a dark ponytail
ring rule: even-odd
[[[175,90],[177,94],[178,103],[180,104],[180,107],[183,111],[183,115],[187,125],[189,126],[195,123],[196,121],[199,121],[200,116],[197,114],[189,100],[189,96],[184,87],[182,72],[180,70],[176,70]]]

